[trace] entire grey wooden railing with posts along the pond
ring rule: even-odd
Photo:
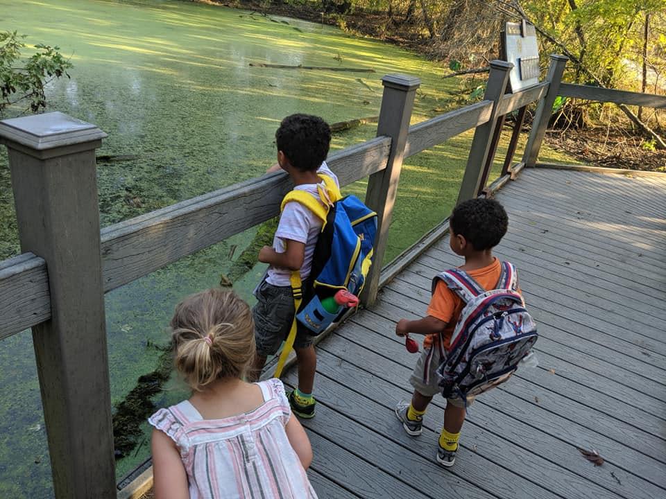
[[[384,77],[376,139],[332,155],[341,185],[369,177],[366,203],[378,213],[375,264],[364,303],[380,284],[434,243],[447,223],[382,270],[400,169],[406,157],[475,130],[459,200],[492,193],[534,166],[558,94],[666,107],[666,98],[560,85],[566,58],[547,78],[506,94],[512,65],[493,61],[484,100],[409,126],[418,78]],[[502,116],[538,103],[522,161],[486,187]],[[498,126],[499,124],[499,126]],[[0,262],[0,339],[33,328],[57,498],[116,495],[103,294],[278,215],[289,191],[273,173],[99,229],[94,150],[105,134],[60,113],[0,122],[8,147],[23,254]],[[90,411],[90,408],[95,408]]]

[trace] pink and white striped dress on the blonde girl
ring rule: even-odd
[[[282,381],[257,383],[264,403],[223,419],[203,419],[189,401],[148,422],[176,442],[191,499],[316,499],[284,426],[291,409]]]

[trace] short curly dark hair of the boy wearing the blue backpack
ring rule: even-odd
[[[319,116],[292,114],[280,123],[275,143],[297,170],[316,170],[328,155],[331,128]]]

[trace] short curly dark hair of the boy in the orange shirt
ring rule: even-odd
[[[449,225],[454,234],[463,236],[477,251],[483,251],[502,240],[509,227],[509,216],[497,201],[476,198],[456,206]]]

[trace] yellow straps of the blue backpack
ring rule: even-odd
[[[321,178],[321,180],[323,180],[324,185],[326,187],[325,193],[322,192],[321,187],[318,188],[321,200],[329,201],[330,204],[333,204],[334,202],[342,198],[340,189],[338,188],[338,186],[335,184],[335,181],[331,177],[329,177],[328,175],[321,175],[321,174],[319,175],[319,177]],[[327,204],[326,206],[324,206],[317,198],[314,197],[314,195],[311,195],[310,193],[307,193],[305,191],[290,191],[289,193],[287,193],[287,195],[284,196],[284,199],[282,199],[282,204],[280,205],[280,211],[284,209],[285,204],[291,201],[296,201],[302,204],[312,213],[314,213],[315,216],[323,222],[322,225],[322,230],[323,230],[323,228],[326,226],[326,218],[328,216],[328,210],[330,208],[330,205]],[[280,378],[280,376],[282,375],[282,369],[284,369],[284,364],[287,362],[287,358],[289,358],[289,353],[293,349],[293,342],[294,340],[296,340],[296,331],[298,330],[298,321],[296,319],[296,313],[298,313],[298,308],[300,307],[300,303],[303,299],[300,271],[294,270],[293,272],[291,272],[291,277],[289,277],[289,281],[291,282],[291,292],[293,294],[293,321],[291,321],[291,329],[289,330],[289,335],[287,335],[287,340],[284,340],[282,352],[280,353],[280,358],[278,358],[278,365],[275,367],[275,374],[273,374],[274,378]]]

